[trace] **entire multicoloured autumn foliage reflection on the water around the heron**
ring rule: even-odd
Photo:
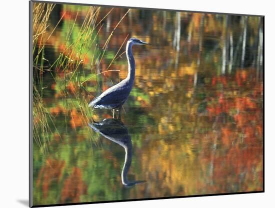
[[[110,8],[101,8],[97,20],[102,19],[109,10]],[[125,11],[115,8],[111,16],[104,19],[102,31],[96,30],[96,33],[99,32],[98,40],[95,40],[96,47],[103,47]],[[64,63],[69,64],[65,72],[62,67],[56,67],[56,82],[45,88],[46,94],[51,98],[44,99],[43,102],[48,104],[57,130],[62,132],[59,136],[54,128],[52,129],[55,133],[49,138],[49,153],[56,154],[58,158],[60,156],[65,162],[48,159],[47,165],[39,169],[38,175],[35,175],[37,191],[34,198],[37,203],[262,189],[263,86],[261,81],[257,82],[255,79],[255,69],[233,67],[230,73],[226,71],[223,76],[219,76],[223,17],[195,13],[181,13],[183,28],[179,60],[175,68],[176,52],[172,47],[174,13],[166,13],[166,26],[171,26],[169,30],[162,27],[162,13],[159,13],[159,17],[157,14],[151,11],[140,13],[140,10],[132,9],[111,37],[101,62],[95,65],[98,57],[96,54],[93,57],[91,52],[94,47],[91,44],[87,53],[79,56],[79,48],[71,47],[73,42],[66,44],[64,41],[67,28],[73,25],[75,18],[73,33],[77,36],[86,11],[62,8],[62,29],[55,30],[47,46],[54,46],[57,56],[63,53]],[[140,24],[143,15],[148,17],[146,23],[153,23],[151,26]],[[248,19],[250,18],[252,17]],[[233,24],[230,28],[233,45],[236,45],[242,26],[237,20],[236,23],[230,21],[230,24]],[[106,32],[107,27],[109,32]],[[200,35],[201,30],[203,36]],[[250,33],[256,34],[257,30],[257,22],[252,22],[248,27],[247,49],[255,45],[256,36]],[[91,148],[88,140],[91,134],[87,132],[85,123],[91,116],[86,117],[83,113],[83,103],[87,104],[99,91],[106,90],[127,76],[125,54],[116,57],[112,65],[109,68],[108,66],[128,31],[131,31],[131,36],[152,44],[149,47],[133,48],[136,63],[135,82],[131,95],[123,106],[126,112],[122,112],[122,120],[132,136],[134,151],[128,176],[147,182],[121,191],[119,172],[124,151],[121,149],[114,152],[114,147],[109,143],[109,151],[98,150],[93,146]],[[47,31],[46,37],[49,34],[50,31]],[[199,53],[200,43],[202,50]],[[122,46],[118,55],[124,49]],[[246,53],[246,56],[249,55]],[[45,58],[48,57],[50,56]],[[83,63],[80,73],[77,74],[76,71],[74,74],[77,79],[69,79],[77,66],[77,60]],[[53,63],[51,60],[49,62]],[[107,68],[120,71],[92,77],[83,84],[85,89],[79,85],[85,78]],[[84,102],[80,103],[74,99],[79,93],[85,95]],[[73,98],[73,102],[68,104],[67,98]],[[133,113],[138,108],[142,110]],[[87,110],[89,111],[91,109]],[[104,110],[92,115],[94,120],[108,117],[111,117],[110,112]],[[33,120],[37,122],[39,117],[36,116]],[[43,160],[40,153],[37,155],[39,156],[35,158],[36,161]],[[96,162],[93,163],[93,160]],[[62,174],[62,171],[66,174]],[[93,177],[90,177],[91,175]],[[84,195],[86,192],[89,194]]]

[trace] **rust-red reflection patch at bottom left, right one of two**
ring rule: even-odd
[[[87,186],[82,181],[81,170],[78,167],[72,167],[71,174],[65,179],[61,190],[61,202],[79,202],[80,195],[86,194],[86,191]]]

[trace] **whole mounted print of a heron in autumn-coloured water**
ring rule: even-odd
[[[30,206],[264,191],[263,16],[29,3]]]

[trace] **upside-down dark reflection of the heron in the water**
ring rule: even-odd
[[[89,127],[124,148],[125,160],[121,171],[121,181],[124,186],[128,187],[145,182],[144,180],[128,181],[127,174],[132,161],[132,142],[128,129],[121,120],[108,118],[101,122],[93,121],[93,123],[89,123]]]

